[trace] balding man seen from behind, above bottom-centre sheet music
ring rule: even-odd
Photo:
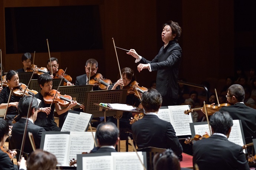
[[[96,137],[98,147],[93,148],[91,153],[116,152],[115,147],[119,141],[119,130],[114,123],[100,123],[97,126]]]

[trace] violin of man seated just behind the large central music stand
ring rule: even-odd
[[[105,79],[99,73],[95,74],[90,78],[89,85],[93,85],[95,87],[99,87],[102,90],[106,90],[106,88],[112,84],[110,79]]]

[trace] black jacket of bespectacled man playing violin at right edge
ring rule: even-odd
[[[256,109],[246,106],[244,103],[236,103],[220,109],[221,112],[229,112],[233,120],[241,120],[246,143],[252,142],[256,137]]]

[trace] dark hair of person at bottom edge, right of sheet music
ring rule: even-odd
[[[157,153],[153,158],[153,164],[154,170],[180,170],[180,161],[171,149]]]

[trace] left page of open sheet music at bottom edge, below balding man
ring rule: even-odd
[[[113,170],[111,156],[83,157],[83,170]]]

